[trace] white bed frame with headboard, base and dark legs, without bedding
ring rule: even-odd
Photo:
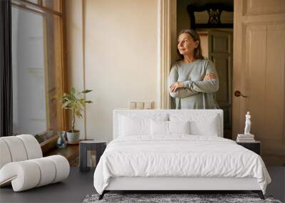
[[[219,115],[219,123],[223,129],[222,110],[114,110],[113,112],[113,137],[118,137],[118,115],[122,113],[216,113]],[[222,131],[223,132],[223,131]],[[223,135],[219,135],[223,137]],[[257,192],[261,199],[264,195],[257,183],[256,178],[234,178],[234,177],[113,177],[108,187],[105,188],[99,199],[111,190],[167,190],[190,191],[190,190],[252,190]]]

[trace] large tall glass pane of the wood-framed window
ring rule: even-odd
[[[14,133],[46,130],[43,16],[12,8]]]

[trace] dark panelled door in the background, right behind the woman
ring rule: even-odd
[[[224,137],[232,138],[232,31],[210,30],[208,58],[219,76],[217,103],[224,110]]]

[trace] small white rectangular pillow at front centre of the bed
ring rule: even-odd
[[[150,121],[150,135],[189,134],[189,121]]]

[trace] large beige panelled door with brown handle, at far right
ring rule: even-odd
[[[249,110],[266,165],[285,165],[285,1],[234,1],[232,97],[233,137]]]

